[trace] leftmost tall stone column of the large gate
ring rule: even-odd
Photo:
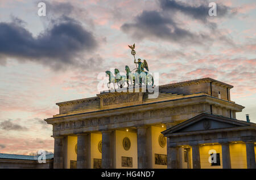
[[[54,169],[64,168],[64,137],[53,137],[54,138]]]

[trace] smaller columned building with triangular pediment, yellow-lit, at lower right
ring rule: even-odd
[[[179,168],[175,166],[179,164],[179,158],[175,149],[185,147],[189,155],[192,152],[192,162],[187,162],[189,168],[200,169],[209,168],[209,162],[201,163],[205,156],[204,149],[210,145],[215,145],[207,152],[207,157],[210,157],[210,151],[216,152],[218,146],[220,148],[220,159],[216,166],[218,168],[234,168],[243,161],[233,161],[235,156],[230,156],[233,152],[240,152],[242,157],[242,149],[230,148],[232,145],[244,144],[246,151],[246,165],[247,168],[255,169],[255,149],[256,149],[256,124],[236,119],[221,117],[218,115],[202,113],[193,117],[179,125],[168,128],[162,132],[164,136],[168,137],[168,145],[170,148],[171,166],[168,168]],[[191,157],[187,157],[191,160]],[[203,166],[203,167],[202,167]],[[212,165],[213,166],[213,165]]]

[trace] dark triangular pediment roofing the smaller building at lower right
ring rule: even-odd
[[[243,126],[255,126],[254,123],[248,123],[245,121],[238,121],[237,119],[231,119],[222,117],[219,115],[202,113],[188,119],[176,125],[174,127],[168,128],[163,131],[163,134],[174,134],[179,132],[192,132],[192,131],[205,131],[205,130],[216,130],[222,128],[233,128],[233,127],[243,127]]]

